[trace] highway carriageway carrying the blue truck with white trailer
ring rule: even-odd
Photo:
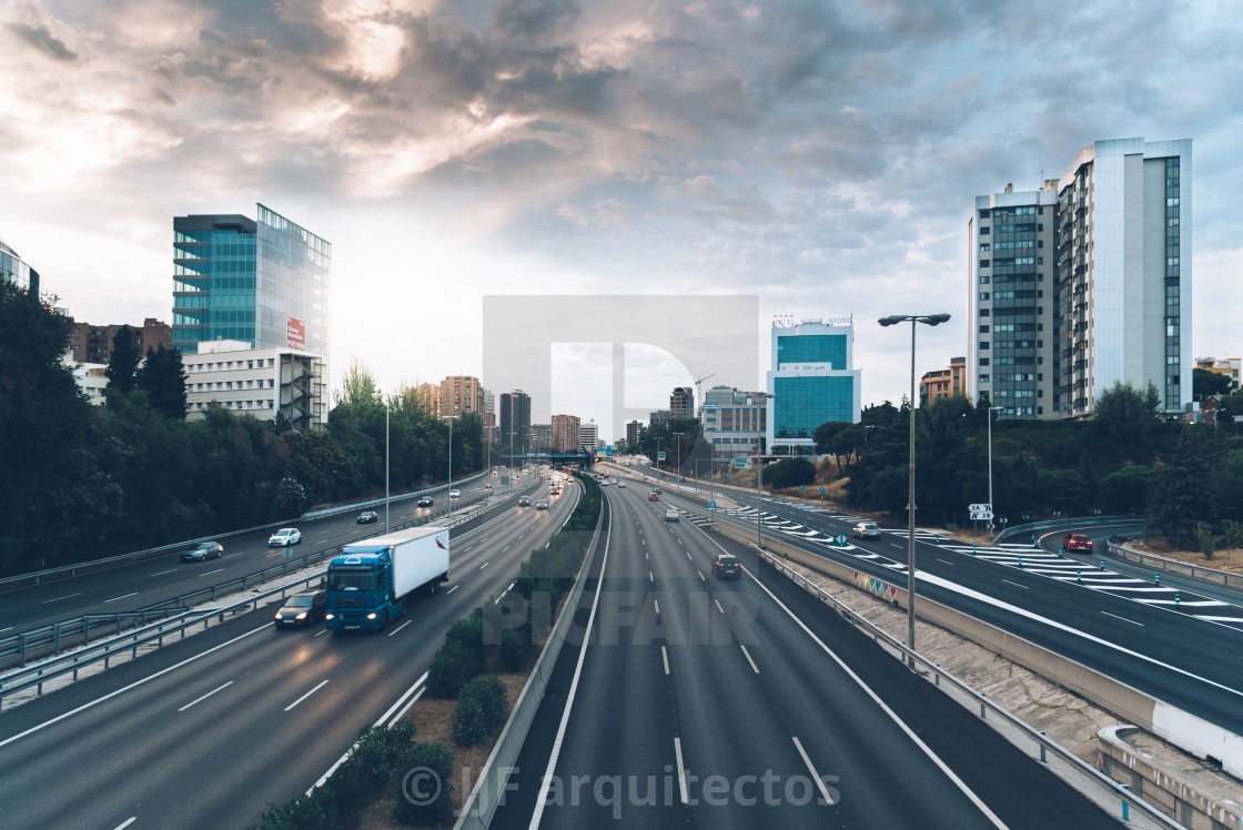
[[[455,534],[449,584],[410,600],[388,631],[276,630],[270,606],[0,714],[0,824],[257,821],[314,784],[410,690],[445,629],[507,589],[579,493]]]

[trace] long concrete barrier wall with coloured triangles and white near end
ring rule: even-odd
[[[742,528],[728,523],[721,523],[717,527],[732,539],[747,544],[755,542],[755,537]],[[764,547],[791,562],[797,562],[858,589],[854,584],[854,568],[818,557],[779,538],[773,538],[771,534],[764,536]],[[895,604],[906,608],[905,588],[899,586]],[[916,615],[994,651],[1007,660],[1013,660],[1024,668],[1064,686],[1186,752],[1199,758],[1212,757],[1222,763],[1224,772],[1243,778],[1243,737],[1170,706],[1069,657],[930,599],[920,599]]]

